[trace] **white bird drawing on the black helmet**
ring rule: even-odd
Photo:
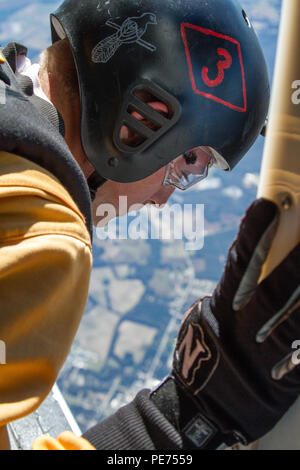
[[[116,30],[116,33],[98,42],[92,50],[92,61],[94,63],[105,64],[117,52],[122,44],[137,43],[148,49],[150,52],[156,51],[156,46],[142,39],[149,24],[157,24],[156,15],[153,13],[143,13],[141,16],[127,18],[121,25],[112,19],[107,20],[107,26]]]

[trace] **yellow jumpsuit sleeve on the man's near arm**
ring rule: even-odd
[[[40,166],[0,152],[0,430],[51,390],[85,308],[91,265],[89,233],[69,193]]]

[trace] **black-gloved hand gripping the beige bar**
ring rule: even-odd
[[[181,326],[173,372],[151,395],[184,439],[216,449],[263,436],[300,393],[300,245],[259,285],[276,232],[272,202],[248,209],[212,297]]]

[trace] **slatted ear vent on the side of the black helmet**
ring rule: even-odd
[[[115,144],[122,152],[142,151],[167,132],[179,116],[176,98],[143,80],[125,97],[114,132]]]

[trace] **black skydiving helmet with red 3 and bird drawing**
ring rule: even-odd
[[[232,169],[263,128],[266,63],[235,0],[65,0],[51,25],[53,42],[70,42],[82,146],[103,178],[145,178],[197,146]],[[132,145],[122,126],[139,137]]]

